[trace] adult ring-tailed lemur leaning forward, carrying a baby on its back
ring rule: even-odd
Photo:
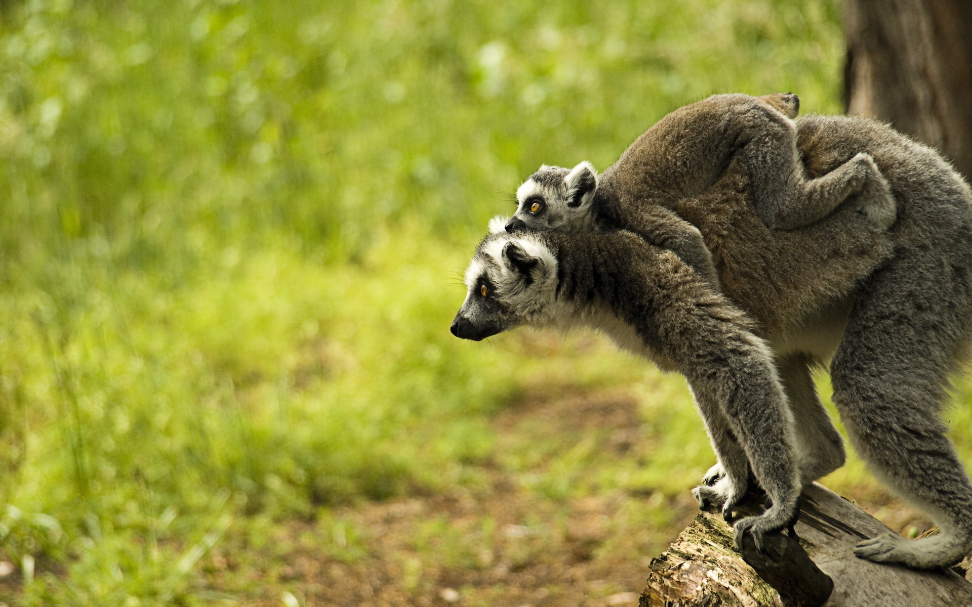
[[[843,465],[810,375],[830,361],[858,453],[941,528],[865,540],[855,554],[954,563],[972,548],[972,484],[938,414],[972,341],[972,191],[936,152],[885,124],[801,118],[797,137],[811,179],[870,154],[895,195],[892,229],[854,205],[770,229],[739,154],[711,188],[673,205],[705,239],[721,293],[625,231],[518,230],[480,244],[452,331],[482,339],[517,325],[586,324],[683,373],[721,464],[697,496],[732,516],[751,471],[773,503],[736,523],[737,539],[783,527],[801,486]]]

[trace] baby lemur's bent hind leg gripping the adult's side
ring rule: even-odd
[[[796,147],[796,125],[768,109],[746,113],[743,160],[756,215],[768,227],[793,229],[830,215],[854,197],[857,210],[882,228],[897,219],[897,204],[874,158],[858,153],[816,179],[805,176]]]

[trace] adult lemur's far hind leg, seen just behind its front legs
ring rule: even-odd
[[[780,380],[793,412],[797,469],[807,487],[844,465],[844,440],[816,395],[809,354],[793,353],[777,360]]]

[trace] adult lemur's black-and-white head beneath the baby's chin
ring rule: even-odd
[[[490,222],[502,230],[503,219]],[[538,322],[553,303],[557,260],[536,234],[487,236],[466,270],[466,301],[449,330],[479,341],[518,324]]]

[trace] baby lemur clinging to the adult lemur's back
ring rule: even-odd
[[[712,185],[736,155],[746,165],[756,215],[771,228],[808,225],[854,195],[859,211],[889,226],[894,198],[867,153],[816,179],[804,177],[791,119],[799,106],[792,93],[712,95],[659,120],[600,179],[589,162],[541,166],[517,189],[506,229],[628,229],[672,250],[714,284],[699,230],[672,209]]]

